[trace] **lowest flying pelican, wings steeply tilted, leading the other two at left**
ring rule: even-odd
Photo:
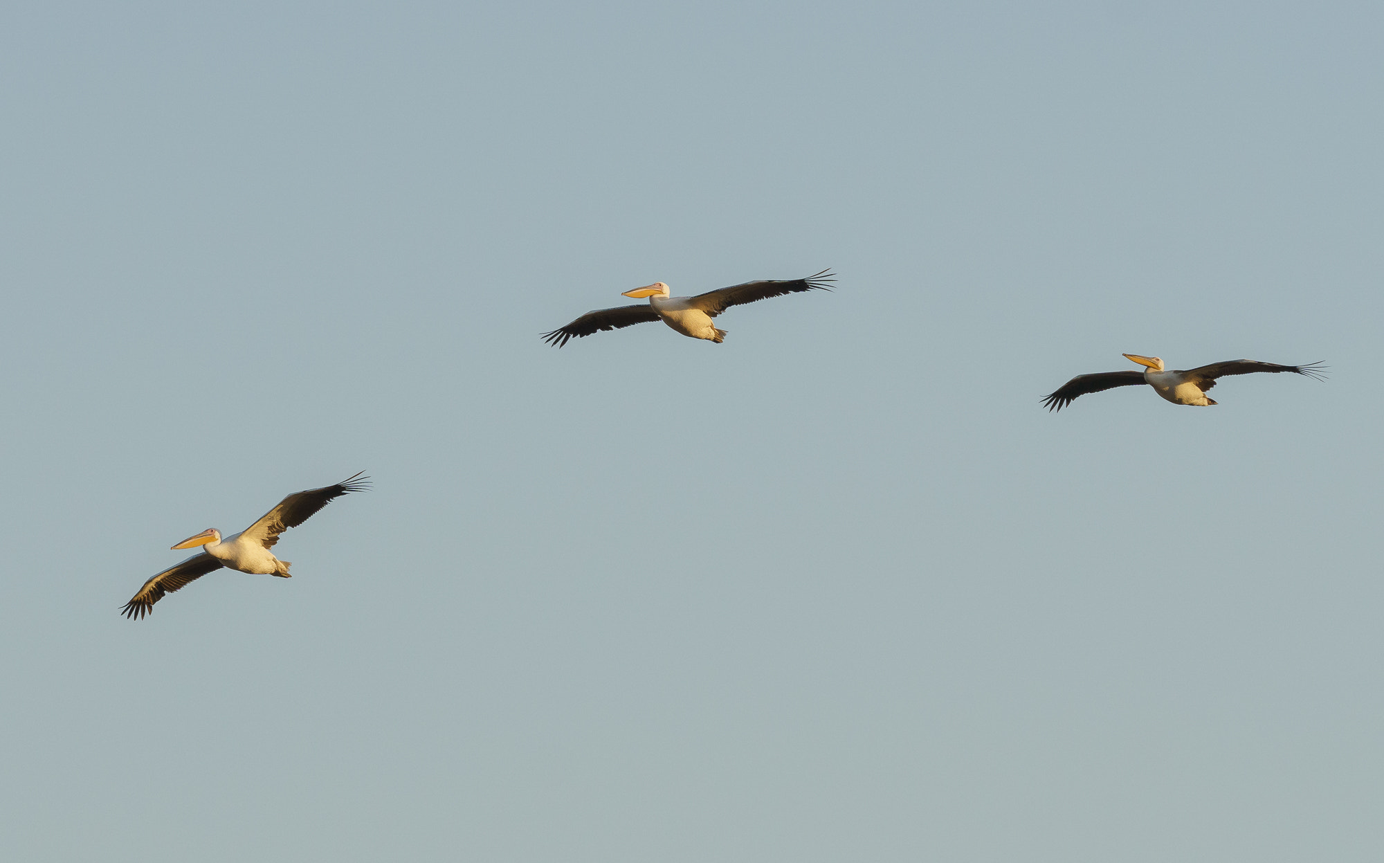
[[[361,473],[365,472],[361,470]],[[202,550],[145,581],[140,592],[134,595],[134,599],[125,603],[122,611],[130,620],[140,620],[154,611],[154,603],[163,599],[165,593],[172,593],[221,567],[251,573],[252,575],[291,578],[288,567],[293,564],[280,560],[270,553],[270,549],[278,542],[278,535],[291,527],[298,527],[303,521],[307,521],[313,513],[327,506],[335,498],[352,491],[365,491],[367,488],[370,488],[370,477],[363,477],[357,473],[335,485],[309,488],[307,491],[288,495],[278,502],[278,506],[264,513],[259,521],[234,537],[228,537],[226,542],[221,542],[221,531],[215,527],[209,527],[195,537],[188,537],[173,548],[184,549],[201,545]]]

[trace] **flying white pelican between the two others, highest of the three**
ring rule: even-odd
[[[801,293],[805,290],[830,290],[826,282],[835,282],[830,270],[822,270],[817,275],[805,279],[782,279],[764,282],[745,282],[720,290],[707,290],[692,297],[671,296],[668,286],[663,282],[653,282],[644,288],[626,290],[620,296],[642,300],[649,297],[648,306],[619,306],[616,308],[598,308],[588,311],[572,324],[549,333],[543,333],[543,340],[548,344],[562,347],[570,339],[590,336],[598,329],[620,329],[649,321],[663,321],[684,336],[693,339],[707,339],[720,344],[725,339],[725,331],[717,329],[711,318],[721,314],[731,306],[743,306],[754,300],[767,300],[785,293]]]

